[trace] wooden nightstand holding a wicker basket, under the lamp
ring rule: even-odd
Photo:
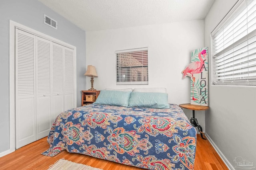
[[[100,90],[82,90],[82,106],[92,104],[98,98]]]

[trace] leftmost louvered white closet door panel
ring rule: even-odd
[[[15,29],[16,149],[36,141],[35,36]]]

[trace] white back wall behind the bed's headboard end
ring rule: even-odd
[[[115,51],[148,47],[148,85],[116,85]],[[169,103],[190,103],[190,78],[182,80],[182,70],[190,63],[190,53],[204,47],[204,21],[183,21],[122,29],[86,32],[86,64],[96,66],[94,88],[167,88]],[[89,89],[90,78],[86,78]],[[184,110],[192,117],[191,110]],[[204,129],[204,111],[196,111]]]

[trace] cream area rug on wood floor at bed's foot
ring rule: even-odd
[[[53,165],[49,166],[48,170],[102,170],[84,164],[78,164],[69,160],[60,159]]]

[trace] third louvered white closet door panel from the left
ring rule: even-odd
[[[64,47],[52,43],[52,122],[64,111]]]

